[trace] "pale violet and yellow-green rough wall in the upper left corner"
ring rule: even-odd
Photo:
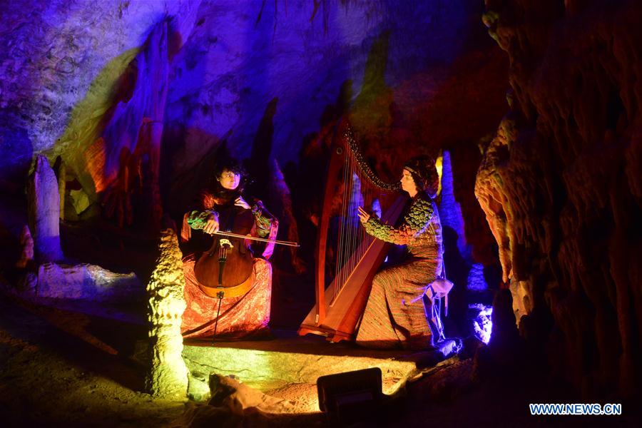
[[[173,17],[173,43],[180,46],[198,6],[188,0],[2,1],[0,183],[24,180],[36,153],[72,157],[86,150],[155,24]]]

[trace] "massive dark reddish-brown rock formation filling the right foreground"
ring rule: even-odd
[[[486,0],[510,111],[476,195],[521,335],[586,396],[640,392],[642,5]]]

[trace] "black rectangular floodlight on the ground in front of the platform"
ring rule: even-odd
[[[328,374],[317,379],[319,409],[338,419],[360,419],[372,414],[384,399],[381,369]]]

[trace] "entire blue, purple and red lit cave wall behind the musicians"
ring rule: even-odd
[[[407,156],[451,149],[467,182],[456,197],[483,225],[476,145],[506,109],[506,58],[479,1],[17,3],[0,6],[4,188],[21,188],[44,153],[65,165],[68,218],[102,203],[135,222],[123,213],[134,178],[178,215],[225,146],[253,162],[259,193],[277,168],[295,198],[292,182],[319,180],[305,172],[322,156],[310,158],[345,116],[384,178]],[[491,260],[488,228],[467,233]]]

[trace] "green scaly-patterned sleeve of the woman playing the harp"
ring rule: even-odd
[[[366,233],[374,236],[374,238],[396,245],[408,245],[413,243],[427,229],[432,213],[432,203],[427,200],[417,199],[412,203],[399,228],[384,225],[381,220],[374,216],[370,217],[364,227]]]

